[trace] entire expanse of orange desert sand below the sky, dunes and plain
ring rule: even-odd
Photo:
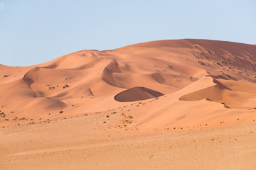
[[[256,169],[255,45],[160,40],[0,73],[0,169]]]

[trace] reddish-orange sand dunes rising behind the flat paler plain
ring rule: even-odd
[[[255,111],[248,110],[256,107],[255,56],[254,45],[161,40],[82,50],[31,67],[1,65],[0,122],[21,125],[49,113],[59,119],[136,101],[146,105],[129,109],[136,118],[129,126],[145,130],[205,123],[215,127],[223,118],[227,125],[238,123],[233,121],[237,117],[250,122],[256,119]],[[151,102],[159,96],[161,100]]]

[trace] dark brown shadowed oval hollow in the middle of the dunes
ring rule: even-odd
[[[146,87],[133,87],[131,89],[127,89],[125,91],[120,92],[116,96],[114,96],[114,100],[127,102],[127,101],[142,101],[150,98],[156,98],[164,96],[159,91],[154,91],[152,89],[148,89]]]

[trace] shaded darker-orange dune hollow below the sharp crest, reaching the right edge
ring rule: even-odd
[[[214,101],[226,108],[255,108],[256,84],[245,81],[213,79],[215,85],[193,91],[178,98],[180,101]]]

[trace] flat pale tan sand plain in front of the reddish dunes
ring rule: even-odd
[[[99,116],[1,129],[1,169],[256,169],[255,123],[145,134]]]

